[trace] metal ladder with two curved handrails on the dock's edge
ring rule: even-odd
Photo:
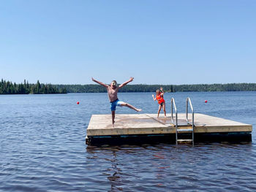
[[[174,109],[176,110],[176,104],[175,104],[175,101],[174,99],[172,98],[171,100],[171,120],[172,120],[172,123],[173,123],[173,106],[174,106]],[[188,104],[190,105],[190,108],[192,110],[192,123],[189,123],[189,114],[188,114]],[[190,126],[191,125],[191,128],[178,128],[178,112],[176,110],[176,144],[178,143],[181,143],[181,142],[192,142],[192,144],[194,145],[194,110],[193,110],[193,107],[192,107],[192,103],[191,103],[191,100],[190,98],[188,97],[187,98],[187,101],[186,101],[186,120],[187,120],[187,126]],[[174,124],[174,123],[173,123]],[[179,139],[178,138],[178,134],[192,134],[192,139]]]

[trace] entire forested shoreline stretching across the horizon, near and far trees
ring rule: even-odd
[[[256,91],[256,83],[195,84],[195,85],[126,85],[119,92],[155,92],[162,87],[165,92],[208,92],[208,91]],[[48,93],[105,93],[101,85],[51,85],[31,84],[27,80],[16,84],[1,80],[0,94],[48,94]]]

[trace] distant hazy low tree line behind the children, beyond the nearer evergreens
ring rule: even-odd
[[[101,85],[56,85],[67,93],[104,93]],[[166,92],[256,91],[256,83],[195,84],[195,85],[126,85],[119,92],[155,92],[162,87]]]

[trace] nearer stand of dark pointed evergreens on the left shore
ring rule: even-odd
[[[27,80],[16,84],[1,79],[0,94],[49,94],[49,93],[67,93],[65,88],[57,88],[55,85],[40,83],[30,84]]]

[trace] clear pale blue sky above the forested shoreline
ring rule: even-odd
[[[0,78],[256,82],[255,0],[0,1]]]

